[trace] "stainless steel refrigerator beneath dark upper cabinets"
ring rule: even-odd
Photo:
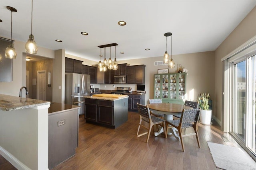
[[[84,96],[90,96],[90,75],[65,74],[65,104],[81,106],[79,115],[84,114]]]

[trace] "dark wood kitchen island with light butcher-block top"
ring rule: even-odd
[[[128,96],[94,94],[84,96],[86,123],[117,128],[128,120]]]

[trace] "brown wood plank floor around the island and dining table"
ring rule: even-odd
[[[54,170],[214,170],[218,168],[206,141],[239,147],[228,133],[220,131],[216,122],[211,126],[199,123],[201,148],[195,136],[184,137],[185,152],[172,135],[165,139],[163,134],[158,137],[151,134],[146,143],[146,135],[136,136],[138,121],[138,113],[129,112],[126,123],[117,129],[108,129],[85,123],[84,116],[80,116],[76,155]],[[222,135],[230,142],[224,142]],[[12,169],[15,168],[0,156],[0,170]]]

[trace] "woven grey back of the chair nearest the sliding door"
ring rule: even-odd
[[[183,123],[195,123],[199,119],[200,109],[183,109],[183,114],[181,116],[181,121]]]

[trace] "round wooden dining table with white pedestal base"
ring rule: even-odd
[[[182,104],[174,103],[152,103],[148,104],[148,108],[151,111],[164,114],[164,119],[167,121],[173,120],[173,115],[182,113],[183,109],[193,109],[193,107],[185,106]],[[168,135],[174,135],[174,137],[180,141],[180,136],[176,133],[178,131],[176,128],[170,128],[167,132]],[[160,135],[164,132],[164,128],[161,127],[157,132],[154,132],[155,136]]]

